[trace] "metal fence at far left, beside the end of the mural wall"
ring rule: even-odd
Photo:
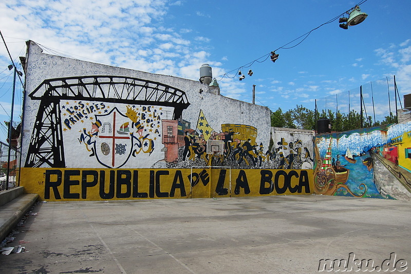
[[[9,157],[10,151],[10,157]],[[0,141],[0,191],[18,186],[18,170],[20,167],[20,151]],[[7,180],[7,173],[9,178]],[[8,184],[7,184],[8,182]]]

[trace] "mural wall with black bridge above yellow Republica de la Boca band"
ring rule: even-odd
[[[312,193],[312,170],[270,162],[267,107],[199,81],[52,56],[31,41],[26,61],[26,192],[49,200]],[[287,140],[302,155],[303,144]],[[220,154],[206,153],[210,141]]]

